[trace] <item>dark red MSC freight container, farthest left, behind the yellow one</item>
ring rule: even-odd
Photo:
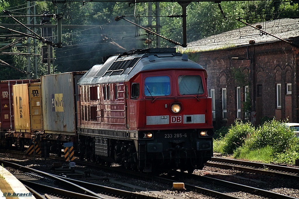
[[[40,82],[39,79],[0,81],[0,122],[1,131],[14,130],[13,85]]]

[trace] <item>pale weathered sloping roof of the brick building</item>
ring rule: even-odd
[[[292,37],[299,36],[299,22],[298,19],[277,19],[267,22],[259,22],[252,24],[261,25],[261,30],[274,35],[278,38],[289,39]],[[193,51],[208,51],[208,50],[219,50],[230,47],[238,47],[249,44],[250,40],[254,40],[255,43],[263,43],[269,41],[278,41],[279,39],[265,35],[250,26],[245,26],[239,29],[231,30],[218,35],[210,36],[198,41],[188,43],[187,48],[184,50]]]

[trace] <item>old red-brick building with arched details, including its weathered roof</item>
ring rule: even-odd
[[[275,36],[299,44],[298,20],[285,21],[280,21],[279,27],[272,25],[273,30],[268,28],[265,31],[273,34],[281,30]],[[243,29],[189,45],[195,51],[192,53],[193,60],[208,72],[215,129],[230,125],[236,119],[250,120],[253,124],[260,124],[265,117],[299,122],[299,48],[261,33],[259,37],[252,37],[252,33],[260,31],[251,28],[255,31],[251,32],[249,27]],[[243,35],[240,41],[238,38]],[[248,44],[249,40],[256,43]],[[228,47],[227,41],[238,43],[236,47]],[[206,49],[210,46],[202,45],[205,42],[222,49]]]

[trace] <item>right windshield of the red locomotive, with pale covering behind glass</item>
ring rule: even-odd
[[[181,95],[201,95],[204,93],[202,78],[199,75],[180,75],[178,81]]]

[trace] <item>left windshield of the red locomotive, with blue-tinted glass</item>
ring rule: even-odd
[[[170,78],[168,76],[147,77],[144,81],[145,96],[170,95]]]

